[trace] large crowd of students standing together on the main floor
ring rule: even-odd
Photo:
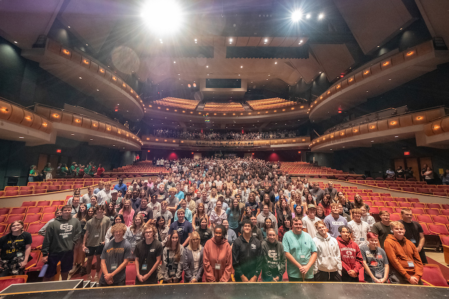
[[[390,222],[333,187],[251,158],[181,159],[180,173],[80,190],[40,231],[44,279],[80,271],[100,286],[289,281],[422,284],[424,235],[412,212]],[[31,236],[16,221],[0,239],[1,276],[23,273]],[[96,257],[96,274],[91,277]],[[85,259],[87,258],[87,260]],[[184,273],[184,276],[183,276]]]

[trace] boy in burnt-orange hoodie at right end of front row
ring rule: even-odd
[[[390,282],[422,285],[423,263],[415,244],[404,237],[404,224],[392,221],[390,227],[393,235],[388,235],[384,242],[384,250],[390,263]]]

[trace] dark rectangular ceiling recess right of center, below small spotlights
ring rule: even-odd
[[[226,58],[309,58],[309,47],[227,47]]]

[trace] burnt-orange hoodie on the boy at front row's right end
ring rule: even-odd
[[[384,242],[384,250],[387,254],[390,266],[394,267],[406,279],[415,276],[418,280],[423,276],[423,263],[420,254],[412,241],[406,237],[399,242],[394,235],[388,235]],[[412,261],[414,267],[409,267]]]

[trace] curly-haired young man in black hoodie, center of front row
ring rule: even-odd
[[[256,282],[262,268],[262,247],[251,234],[251,222],[243,222],[243,233],[232,245],[232,266],[236,282]]]

